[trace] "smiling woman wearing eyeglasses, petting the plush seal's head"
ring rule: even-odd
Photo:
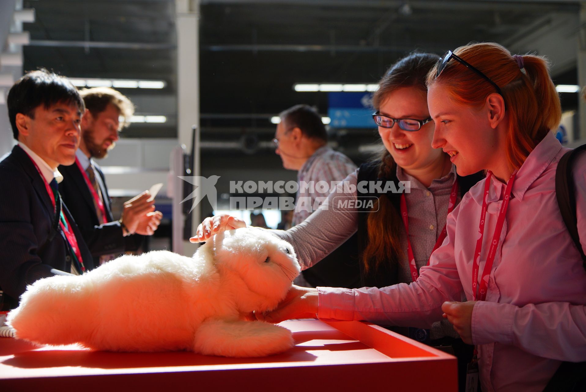
[[[438,60],[437,55],[413,53],[386,72],[373,96],[377,110],[373,119],[385,148],[379,158],[363,164],[343,182],[354,188],[360,183],[377,182],[383,188],[389,182],[396,185],[393,189],[400,189],[404,184],[400,181],[405,181],[410,183],[410,192],[370,192],[368,185],[335,192],[302,224],[275,232],[294,245],[302,268],[311,267],[358,231],[363,286],[383,288],[411,283],[444,240],[448,212],[483,174],[456,175],[448,154],[431,146],[434,123],[427,108],[425,76]],[[338,200],[374,204],[367,209],[357,208],[356,204],[340,207]],[[207,218],[192,241],[206,241],[223,229],[242,225],[244,222],[227,215]],[[304,289],[300,288],[299,293]],[[452,346],[465,371],[472,348],[462,343],[447,320],[438,320],[442,320],[441,315],[433,325],[410,329],[406,325],[397,332],[432,346]],[[390,319],[376,322],[389,325]]]

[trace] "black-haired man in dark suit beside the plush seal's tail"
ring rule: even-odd
[[[57,192],[57,166],[75,160],[85,110],[77,89],[46,70],[23,76],[8,93],[8,116],[18,140],[0,161],[0,290],[2,309],[40,278],[80,274],[91,254]]]

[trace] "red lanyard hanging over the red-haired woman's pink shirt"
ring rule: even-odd
[[[496,219],[496,227],[495,227],[495,234],[492,236],[492,242],[490,243],[490,249],[488,251],[488,255],[486,256],[486,264],[484,266],[484,270],[482,271],[482,278],[480,281],[480,288],[478,296],[476,295],[477,286],[478,286],[478,271],[480,269],[480,252],[482,251],[482,237],[484,236],[484,224],[486,221],[486,208],[488,206],[488,191],[490,189],[490,177],[492,177],[492,173],[488,172],[486,176],[486,180],[484,183],[484,194],[482,197],[482,212],[480,215],[480,225],[478,228],[478,232],[480,234],[478,241],[476,241],[476,250],[474,252],[474,264],[472,267],[472,298],[473,300],[486,300],[486,291],[488,289],[488,278],[490,275],[490,270],[492,269],[492,263],[495,261],[496,255],[496,248],[499,245],[499,238],[500,232],[503,229],[503,225],[505,224],[505,216],[507,214],[507,208],[509,207],[509,200],[510,194],[513,189],[513,183],[515,182],[515,175],[517,173],[513,173],[509,182],[507,182],[507,187],[505,190],[505,197],[503,197],[503,203],[500,206],[499,216]]]

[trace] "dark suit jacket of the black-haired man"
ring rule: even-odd
[[[52,269],[71,271],[71,256],[61,230],[50,239],[54,208],[45,181],[21,147],[0,161],[0,288],[3,309],[18,305],[19,296],[40,278],[53,276]],[[86,270],[94,267],[90,251],[69,210],[63,213],[77,238]]]

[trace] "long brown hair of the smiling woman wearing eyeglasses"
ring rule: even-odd
[[[374,109],[379,110],[381,104],[394,90],[402,87],[414,87],[427,92],[425,76],[440,59],[431,53],[411,53],[392,65],[379,81],[379,89],[373,95]],[[379,178],[393,177],[397,165],[386,149],[377,158],[380,161],[378,168]],[[367,218],[368,243],[362,252],[364,271],[379,267],[381,262],[396,263],[403,256],[401,249],[401,227],[403,221],[397,208],[389,198],[380,197],[374,204]]]

